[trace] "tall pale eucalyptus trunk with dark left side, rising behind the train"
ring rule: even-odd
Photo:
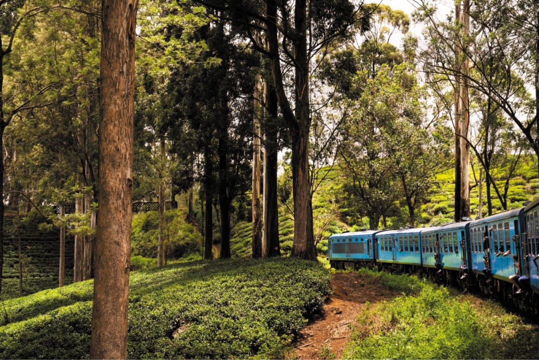
[[[469,35],[469,0],[463,0],[455,5],[455,20],[462,24],[464,36]],[[465,40],[467,41],[467,40]],[[464,45],[466,46],[466,45]],[[458,74],[455,74],[455,221],[470,215],[469,209],[469,104],[467,74],[469,59],[461,59],[468,50],[463,51],[455,45],[455,61]]]

